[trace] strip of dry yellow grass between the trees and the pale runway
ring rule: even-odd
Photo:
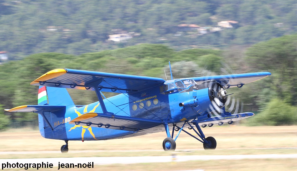
[[[202,128],[217,140],[217,149],[297,147],[297,126],[213,126]],[[193,132],[192,130],[188,130]],[[38,130],[20,129],[0,133],[0,151],[57,151],[62,140],[45,139]],[[69,150],[162,150],[165,132],[105,141],[69,141]],[[202,143],[181,133],[177,150],[203,149]]]

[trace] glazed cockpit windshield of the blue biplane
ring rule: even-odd
[[[192,79],[175,79],[165,81],[165,91],[176,92],[189,88],[191,85],[195,85],[196,82]]]

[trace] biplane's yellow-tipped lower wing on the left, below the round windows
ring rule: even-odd
[[[86,113],[70,124],[137,132],[162,125],[162,121],[103,113]]]

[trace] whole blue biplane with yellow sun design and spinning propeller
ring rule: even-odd
[[[38,113],[42,137],[66,142],[61,147],[62,153],[68,152],[69,140],[118,139],[160,131],[166,132],[164,150],[175,150],[181,131],[202,142],[204,149],[215,149],[216,140],[205,137],[200,126],[232,124],[254,115],[226,112],[225,89],[242,87],[269,75],[269,72],[259,72],[172,79],[171,74],[171,80],[166,81],[146,76],[55,69],[31,82],[40,86],[38,105],[6,111]],[[93,90],[99,101],[75,105],[67,88]],[[102,92],[120,94],[105,98]],[[220,114],[213,116],[213,111]],[[185,128],[193,129],[197,136]]]

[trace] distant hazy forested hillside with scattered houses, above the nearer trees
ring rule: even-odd
[[[295,33],[296,16],[293,0],[0,0],[0,51],[13,60],[138,43],[225,48]]]

